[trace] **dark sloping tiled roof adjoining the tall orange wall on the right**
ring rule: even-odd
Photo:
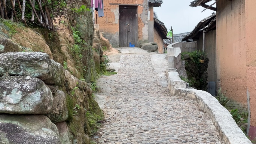
[[[188,34],[187,36],[185,36],[182,41],[188,40],[193,38],[194,36],[196,36],[199,33],[199,30],[201,30],[202,28],[204,28],[204,25],[208,25],[212,19],[216,18],[216,13],[214,13],[211,16],[208,16],[207,18],[204,18],[202,21],[200,21],[196,27],[193,29],[193,31]]]

